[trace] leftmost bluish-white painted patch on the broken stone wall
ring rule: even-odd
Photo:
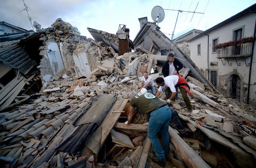
[[[57,43],[48,44],[46,58],[49,60],[51,64],[52,72],[54,75],[56,75],[64,68],[61,53]]]

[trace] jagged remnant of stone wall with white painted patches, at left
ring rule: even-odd
[[[40,55],[43,57],[40,63],[41,78],[47,80],[50,75],[56,75],[64,68],[71,68],[72,53],[81,40],[70,23],[58,18],[52,25],[53,32],[46,32],[40,40],[43,46],[40,47]],[[42,82],[43,82],[42,80]]]

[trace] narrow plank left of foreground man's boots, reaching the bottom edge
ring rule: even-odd
[[[144,168],[146,166],[147,159],[148,159],[148,152],[149,152],[149,148],[150,148],[150,143],[151,142],[150,142],[149,137],[147,135],[147,137],[144,141],[143,149],[140,153],[140,157],[139,157],[136,168]]]

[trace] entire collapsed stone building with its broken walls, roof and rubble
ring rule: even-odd
[[[94,39],[81,39],[58,18],[52,27],[0,49],[4,66],[17,70],[0,90],[5,166],[159,167],[148,158],[145,116],[137,111],[131,126],[124,122],[139,77],[144,71],[153,79],[161,76],[172,52],[184,65],[180,75],[189,81],[194,110],[188,113],[181,100],[171,104],[187,131],[170,123],[167,166],[254,167],[255,107],[224,97],[160,27],[140,23],[133,41],[125,25],[117,34],[87,28]],[[25,86],[37,90],[24,92]],[[165,102],[163,93],[159,98]]]

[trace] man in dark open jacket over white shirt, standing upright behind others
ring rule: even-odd
[[[183,65],[180,63],[179,60],[174,59],[174,54],[170,53],[168,55],[168,60],[164,63],[162,68],[162,73],[164,77],[170,76],[170,75],[178,75],[179,70],[183,68]],[[178,87],[175,87],[176,95],[175,98],[178,98]],[[165,95],[166,99],[169,99],[171,97],[171,90],[170,88],[166,88]]]

